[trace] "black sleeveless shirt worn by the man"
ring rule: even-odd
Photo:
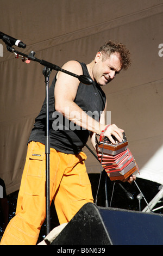
[[[89,72],[84,63],[82,65],[83,74],[89,76]],[[54,108],[54,87],[57,81],[56,76],[49,88],[49,141],[50,147],[67,154],[78,154],[85,146],[89,138],[90,131],[77,126],[72,121]],[[79,83],[74,102],[92,118],[99,121],[104,110],[106,97],[101,87],[93,81],[93,84],[86,85]],[[30,141],[45,144],[46,125],[46,101],[43,102],[41,111],[35,119],[35,124],[28,143]]]

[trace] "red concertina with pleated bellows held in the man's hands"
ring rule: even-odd
[[[117,139],[112,136],[114,140]],[[96,135],[96,149],[98,160],[102,163],[110,180],[124,180],[133,174],[137,168],[128,148],[128,141],[123,132],[123,141],[112,144],[107,137]]]

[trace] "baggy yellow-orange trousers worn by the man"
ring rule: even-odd
[[[54,199],[60,224],[69,222],[87,203],[93,203],[86,173],[86,155],[64,154],[51,148],[50,200]],[[1,245],[36,245],[46,217],[45,145],[30,142],[18,193],[15,217],[3,234]]]

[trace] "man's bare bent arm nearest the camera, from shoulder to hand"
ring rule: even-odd
[[[63,69],[73,72],[77,75],[83,75],[82,66],[80,63],[72,60],[67,62]],[[105,129],[106,124],[103,121],[103,114],[101,121],[98,122],[95,119],[87,115],[82,108],[80,108],[74,99],[77,94],[79,86],[79,80],[76,77],[67,75],[63,72],[59,72],[57,76],[57,82],[54,89],[55,109],[61,112],[67,119],[73,121],[75,124],[82,126],[93,133],[101,134]],[[122,131],[118,129],[116,125],[111,125],[105,132],[105,136],[112,140],[111,134],[114,135],[119,141],[122,141]],[[114,143],[114,141],[113,141]]]

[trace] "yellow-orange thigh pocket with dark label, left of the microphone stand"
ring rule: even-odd
[[[29,166],[27,175],[29,176],[44,176],[45,175],[45,152],[33,150],[29,155]]]

